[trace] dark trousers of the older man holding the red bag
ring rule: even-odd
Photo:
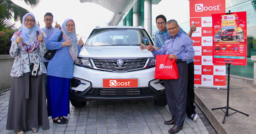
[[[187,62],[177,63],[179,78],[164,80],[165,93],[172,119],[175,125],[183,127],[187,103]]]

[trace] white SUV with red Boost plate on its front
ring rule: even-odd
[[[154,42],[143,27],[96,27],[78,55],[70,102],[154,100],[167,105],[165,87],[154,79],[156,58],[140,50]]]

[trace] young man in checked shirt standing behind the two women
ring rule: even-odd
[[[61,30],[61,27],[60,27],[60,24],[57,23],[57,21],[56,21],[55,27],[52,26],[52,24],[53,24],[53,14],[52,13],[46,13],[44,15],[44,23],[45,23],[45,27],[42,28],[42,30],[44,31],[44,33],[47,36],[47,38],[44,39],[44,42],[46,44],[46,42],[49,40],[49,38],[52,36],[52,34],[55,31]],[[38,26],[40,27],[39,22],[38,22]],[[43,56],[41,56],[41,58],[42,58],[44,65],[47,69],[49,61],[45,60]],[[47,91],[47,74],[44,75],[44,82],[45,82],[45,91]],[[46,95],[47,95],[47,93],[46,93]]]

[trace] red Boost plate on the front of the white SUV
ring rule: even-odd
[[[103,79],[103,87],[138,87],[138,79]]]

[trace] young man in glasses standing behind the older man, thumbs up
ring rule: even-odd
[[[168,33],[168,30],[166,28],[166,17],[163,15],[158,15],[156,17],[156,27],[158,31],[155,33],[155,46],[154,48],[156,50],[159,50],[164,44],[165,41],[169,39],[171,36]],[[191,38],[193,31],[196,31],[196,26],[193,24],[190,27],[190,30],[188,34],[180,27],[179,31]],[[140,46],[141,50],[147,49],[147,46],[142,44]],[[194,100],[195,100],[195,92],[194,92],[194,58],[191,58],[187,61],[188,66],[188,85],[187,85],[187,105],[186,105],[186,114],[188,117],[190,117],[193,121],[196,121],[197,119],[197,113],[195,111],[196,106],[194,106]],[[173,122],[165,121],[165,124],[173,124]]]

